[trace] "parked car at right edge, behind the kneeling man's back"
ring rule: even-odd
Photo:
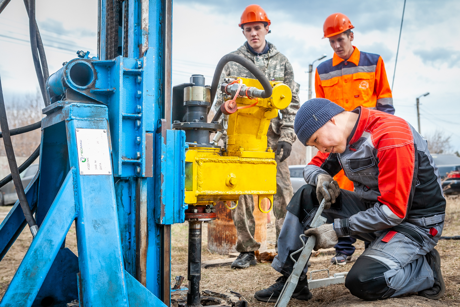
[[[459,194],[460,193],[460,157],[454,155],[438,155],[433,154],[434,162],[436,163],[443,189],[450,187],[444,191],[444,194]]]

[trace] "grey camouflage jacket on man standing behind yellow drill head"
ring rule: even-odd
[[[269,51],[266,54],[257,56],[251,53],[247,47],[247,42],[238,48],[238,50],[231,52],[241,55],[251,62],[253,62],[268,78],[270,81],[282,81],[291,88],[292,101],[289,106],[278,112],[278,116],[271,120],[271,128],[273,132],[279,135],[278,142],[288,142],[293,144],[296,135],[294,133],[294,118],[297,110],[299,110],[299,83],[294,81],[294,73],[292,70],[291,63],[276,47],[267,42]],[[220,76],[220,82],[224,82],[224,77],[228,75],[238,76],[242,78],[254,78],[246,68],[235,62],[227,63],[224,67],[224,71]],[[222,92],[220,86],[217,91],[217,101],[214,106],[215,110],[219,110],[222,104]],[[281,113],[281,114],[280,114]]]

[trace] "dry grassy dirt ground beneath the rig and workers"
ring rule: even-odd
[[[0,221],[6,217],[11,206],[0,207]],[[273,218],[271,220],[274,220]],[[212,253],[207,249],[207,224],[203,224],[203,249],[202,260],[212,260],[226,258],[224,255]],[[172,227],[172,279],[176,275],[187,276],[187,237],[188,225],[176,224]],[[443,236],[460,235],[460,197],[448,197],[446,221]],[[6,291],[17,267],[19,266],[24,254],[31,242],[31,235],[26,227],[11,249],[0,261],[0,297]],[[275,241],[275,228],[268,225],[267,241]],[[75,226],[70,228],[66,239],[66,247],[77,253]],[[358,241],[357,250],[353,255],[353,261],[345,266],[331,266],[330,255],[319,255],[311,259],[311,270],[328,268],[331,273],[349,271],[354,261],[364,250],[364,244]],[[273,248],[273,245],[269,245]],[[460,305],[460,241],[440,240],[437,245],[442,259],[443,277],[446,283],[446,294],[437,301],[428,300],[416,295],[403,295],[383,301],[362,301],[350,294],[344,285],[332,285],[324,288],[312,290],[313,299],[310,301],[291,300],[289,307],[319,307],[319,306],[346,306],[346,307],[370,307],[370,306],[389,306],[389,307],[429,307],[429,306],[459,306]],[[230,266],[203,269],[201,271],[201,289],[216,291],[227,291],[232,289],[240,292],[249,302],[250,307],[270,307],[274,303],[256,301],[253,297],[254,292],[274,283],[280,276],[273,270],[270,263],[259,263],[243,270],[230,269]],[[314,278],[326,277],[326,273],[317,273]]]

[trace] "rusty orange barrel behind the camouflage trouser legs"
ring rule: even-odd
[[[254,220],[256,222],[254,239],[260,243],[260,249],[267,249],[267,214],[259,211],[257,207],[257,195],[254,195]],[[262,201],[262,208],[269,208],[269,200]],[[217,218],[207,224],[207,248],[210,251],[221,255],[236,253],[236,235],[235,224],[231,217],[230,209],[225,207],[224,202],[217,202]]]

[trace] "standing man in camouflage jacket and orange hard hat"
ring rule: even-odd
[[[293,94],[291,104],[286,109],[280,110],[278,116],[271,120],[267,132],[268,146],[276,153],[276,195],[273,197],[273,213],[276,217],[277,248],[278,235],[286,215],[286,206],[293,197],[286,158],[291,154],[291,147],[296,139],[294,118],[299,109],[299,84],[294,81],[293,69],[288,59],[273,44],[265,41],[265,35],[269,33],[269,24],[270,20],[260,6],[247,6],[240,23],[247,41],[232,53],[241,55],[253,62],[269,80],[284,82],[291,88]],[[253,74],[235,62],[225,65],[219,84],[224,82],[225,76],[254,78]],[[222,102],[222,92],[219,89],[215,110],[219,110]],[[226,145],[226,136],[224,143]],[[240,255],[233,261],[231,267],[246,268],[256,264],[254,251],[259,249],[260,243],[254,239],[253,210],[252,195],[242,195],[238,206],[232,210],[232,218],[238,236],[236,250],[240,252]]]

